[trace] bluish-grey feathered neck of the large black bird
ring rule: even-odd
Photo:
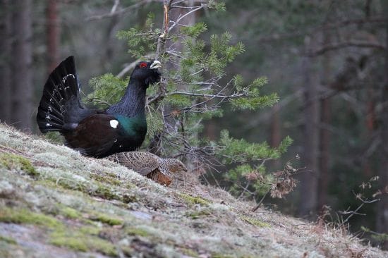
[[[107,109],[108,113],[116,113],[122,116],[141,116],[145,113],[145,85],[137,80],[132,80],[126,88],[126,92],[119,102]]]

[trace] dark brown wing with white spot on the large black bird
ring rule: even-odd
[[[80,121],[66,133],[66,145],[87,156],[104,156],[121,137],[114,116],[94,114]]]

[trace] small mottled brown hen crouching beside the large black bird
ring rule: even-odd
[[[167,186],[171,184],[171,173],[187,171],[178,159],[162,159],[150,152],[119,152],[107,159]]]

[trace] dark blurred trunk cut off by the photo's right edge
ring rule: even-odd
[[[385,13],[388,11],[388,2],[384,4]],[[388,18],[386,25],[386,46],[388,46]],[[381,196],[380,202],[377,204],[377,231],[381,233],[388,232],[388,48],[385,48],[385,82],[382,90],[382,111],[381,111],[381,128],[380,142],[382,151],[380,152],[380,168],[378,175],[380,177],[380,189],[384,190],[384,195]],[[388,241],[382,245],[385,250],[388,250]]]

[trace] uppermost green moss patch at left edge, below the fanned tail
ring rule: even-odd
[[[13,153],[1,153],[0,166],[8,169],[21,170],[30,176],[39,176],[39,172],[32,166],[29,159]]]

